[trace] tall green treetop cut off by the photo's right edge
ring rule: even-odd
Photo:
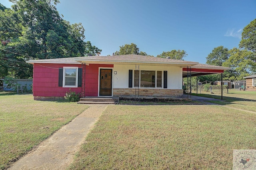
[[[256,53],[256,19],[244,27],[239,47]]]

